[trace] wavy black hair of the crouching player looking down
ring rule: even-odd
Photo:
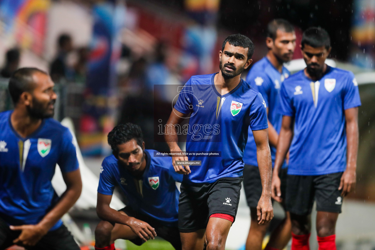
[[[108,133],[108,144],[115,155],[118,154],[117,145],[124,144],[131,139],[135,139],[137,144],[142,147],[143,135],[141,127],[133,123],[119,124]]]

